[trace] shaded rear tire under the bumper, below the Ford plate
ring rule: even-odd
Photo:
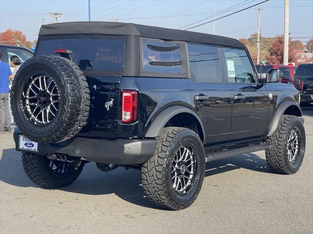
[[[56,166],[51,167],[51,163],[56,163]],[[59,163],[62,162],[51,161],[45,155],[22,153],[22,164],[26,175],[35,184],[45,188],[55,189],[70,185],[77,179],[84,167],[84,163],[81,163],[78,170],[75,170],[72,163],[66,165]],[[61,172],[54,169],[57,166],[62,167]]]

